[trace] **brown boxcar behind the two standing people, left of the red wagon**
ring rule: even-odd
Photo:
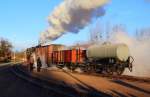
[[[31,48],[27,48],[26,50],[26,59],[27,63],[30,63],[30,57],[34,56],[35,64],[37,57],[40,57],[43,66],[49,67],[52,64],[52,52],[64,49],[64,45],[60,44],[51,44],[47,46],[35,46]]]

